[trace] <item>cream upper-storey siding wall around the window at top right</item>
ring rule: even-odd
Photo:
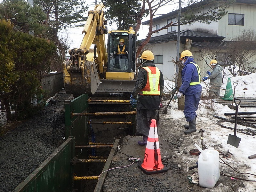
[[[219,20],[218,35],[225,36],[224,40],[236,37],[242,31],[253,29],[256,32],[255,18],[256,6],[254,5],[241,5],[233,4],[227,9],[228,13],[244,14],[244,26],[242,25],[228,25],[228,13]]]

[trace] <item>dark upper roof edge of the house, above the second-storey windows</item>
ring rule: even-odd
[[[180,11],[181,12],[186,12],[187,9],[191,9],[191,7],[197,7],[197,6],[203,6],[203,5],[207,5],[210,4],[211,0],[204,0],[192,5],[189,5],[187,7],[181,8]],[[236,0],[236,3],[242,3],[242,4],[256,4],[255,0]],[[159,20],[163,20],[163,19],[167,19],[167,18],[171,18],[172,16],[178,15],[178,11],[179,10],[175,10],[166,14],[163,14],[159,17],[153,18],[153,22],[159,21]],[[142,25],[149,25],[149,20],[144,21],[141,23]]]

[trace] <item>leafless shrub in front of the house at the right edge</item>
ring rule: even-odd
[[[239,36],[224,41],[219,47],[212,47],[205,42],[201,58],[216,59],[232,76],[244,76],[256,72],[256,33],[254,30],[243,30]],[[224,45],[224,46],[223,46]]]

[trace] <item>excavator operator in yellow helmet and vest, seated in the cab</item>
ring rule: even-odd
[[[119,44],[114,49],[114,57],[116,57],[116,67],[117,69],[120,68],[119,59],[128,59],[128,47],[124,44],[124,39],[120,39]]]

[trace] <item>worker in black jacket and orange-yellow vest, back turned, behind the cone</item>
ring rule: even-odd
[[[154,54],[151,51],[144,51],[139,59],[142,59],[142,66],[131,94],[130,103],[133,107],[137,105],[135,135],[143,137],[138,144],[146,145],[151,119],[156,119],[158,127],[158,111],[164,91],[164,77],[154,65]]]

